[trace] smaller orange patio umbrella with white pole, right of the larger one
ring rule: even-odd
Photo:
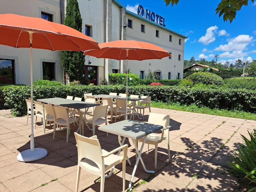
[[[162,59],[170,57],[168,51],[147,42],[134,40],[116,40],[99,44],[101,49],[88,50],[84,55],[97,58],[126,60],[126,114],[127,119],[127,84],[128,84],[128,60]]]

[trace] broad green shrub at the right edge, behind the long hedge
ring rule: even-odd
[[[253,79],[253,77],[233,77],[225,79],[224,81],[227,87],[231,89],[256,90],[256,78]]]

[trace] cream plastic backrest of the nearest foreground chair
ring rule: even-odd
[[[104,160],[101,157],[102,151],[100,142],[97,139],[97,135],[92,137],[84,137],[82,135],[74,133],[77,142],[78,161],[82,158],[87,158],[97,164],[99,170],[104,165]]]

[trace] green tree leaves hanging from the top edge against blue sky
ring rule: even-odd
[[[248,6],[249,1],[254,3],[254,0],[221,0],[215,9],[216,15],[219,14],[219,18],[223,15],[224,22],[228,22],[229,20],[231,23],[233,19],[236,18],[237,12],[240,11],[243,6]],[[170,3],[173,6],[174,4],[177,5],[179,0],[164,0],[164,2],[166,6]]]

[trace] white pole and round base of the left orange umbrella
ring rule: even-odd
[[[29,33],[29,40],[30,40],[30,86],[31,86],[31,135],[30,137],[30,149],[27,149],[25,151],[22,151],[18,154],[17,160],[21,162],[30,162],[30,161],[36,161],[38,159],[41,159],[47,155],[46,149],[43,148],[35,148],[35,142],[34,142],[34,107],[33,107],[33,65],[32,65],[32,40],[33,40],[33,31],[28,31]]]

